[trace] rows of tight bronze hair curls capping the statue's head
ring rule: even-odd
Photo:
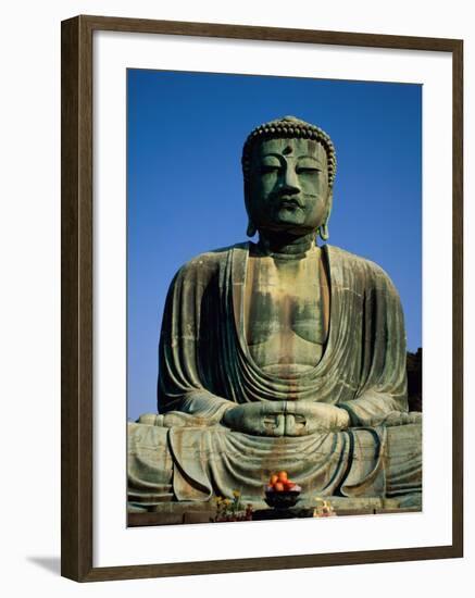
[[[316,125],[305,123],[296,116],[284,116],[270,121],[255,127],[248,135],[242,148],[242,173],[245,180],[249,180],[249,173],[251,166],[251,151],[257,141],[272,138],[300,138],[300,139],[314,139],[322,144],[325,148],[326,155],[328,158],[328,184],[332,187],[335,180],[337,172],[337,157],[335,152],[335,146],[333,145],[329,136]]]

